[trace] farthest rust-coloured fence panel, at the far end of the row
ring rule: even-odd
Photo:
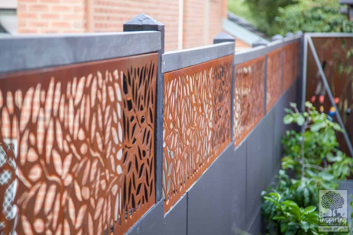
[[[286,91],[292,82],[297,79],[294,72],[294,43],[288,44],[283,47],[284,51],[284,67],[283,67],[283,91]]]

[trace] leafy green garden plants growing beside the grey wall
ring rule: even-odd
[[[282,139],[281,169],[276,184],[262,192],[262,212],[271,234],[326,234],[318,232],[318,189],[336,189],[351,175],[353,159],[338,149],[335,132],[343,130],[330,116],[308,101],[304,112],[290,105],[283,122],[301,130]]]

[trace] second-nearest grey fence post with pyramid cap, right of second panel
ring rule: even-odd
[[[233,110],[233,103],[234,103],[234,72],[235,72],[235,66],[234,66],[234,52],[235,52],[235,38],[229,35],[228,33],[221,32],[218,35],[216,35],[213,38],[213,44],[217,43],[222,43],[222,42],[234,42],[234,50],[233,50],[233,62],[232,62],[232,88],[231,88],[231,136],[232,136],[232,141],[234,141],[234,134],[233,134],[233,115],[234,115],[234,110]]]

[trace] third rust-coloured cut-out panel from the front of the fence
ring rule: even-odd
[[[234,145],[249,134],[264,116],[264,79],[266,56],[235,66]]]

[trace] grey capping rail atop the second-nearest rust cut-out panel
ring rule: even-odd
[[[162,73],[232,55],[234,50],[234,42],[222,42],[204,47],[168,51],[162,54]]]

